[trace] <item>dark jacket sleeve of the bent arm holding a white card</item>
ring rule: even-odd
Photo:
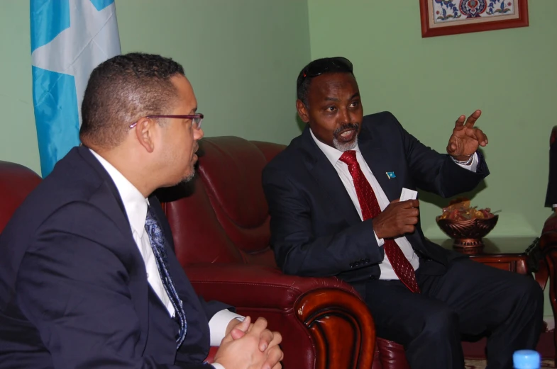
[[[371,220],[317,235],[312,221],[316,210],[286,171],[265,168],[263,189],[271,215],[271,244],[285,273],[337,276],[382,261]]]

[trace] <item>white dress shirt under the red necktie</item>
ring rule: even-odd
[[[312,132],[311,129],[309,130],[309,132],[311,132],[311,137],[314,139],[315,143],[317,144],[317,147],[321,149],[321,151],[325,154],[327,159],[329,159],[329,161],[331,161],[331,164],[333,164],[333,167],[338,173],[338,176],[341,178],[341,181],[344,187],[346,188],[346,192],[348,192],[348,195],[350,196],[352,203],[354,204],[354,207],[356,208],[356,210],[358,210],[358,215],[360,215],[360,219],[363,220],[362,208],[360,207],[360,202],[358,201],[358,195],[354,187],[354,181],[352,179],[352,175],[350,174],[350,171],[348,171],[348,164],[339,160],[343,152],[339,151],[338,149],[335,149],[334,147],[329,146],[328,144],[324,144],[323,142],[317,140],[317,137],[315,137],[314,132]],[[377,198],[377,203],[379,203],[379,207],[381,208],[381,211],[385,210],[385,208],[387,208],[387,205],[390,204],[387,195],[385,195],[385,192],[379,185],[379,182],[377,182],[375,176],[373,176],[373,173],[371,172],[368,163],[366,163],[365,159],[363,159],[358,144],[356,144],[353,150],[356,152],[356,160],[358,160],[358,164],[360,164],[360,169],[362,169],[363,175],[370,183],[371,188],[373,188],[373,192],[375,193],[375,197]],[[476,167],[478,166],[478,155],[474,154],[474,159],[470,165],[468,166],[462,164],[458,164],[458,165],[462,166],[465,169],[475,171]],[[373,233],[375,234],[375,231],[373,231]],[[377,234],[375,234],[375,239],[377,240],[378,246],[382,246],[383,244],[385,244],[385,240],[378,238]],[[406,256],[406,259],[408,259],[410,264],[412,264],[412,268],[414,268],[414,271],[417,270],[417,268],[419,267],[419,257],[414,252],[414,249],[412,249],[412,245],[410,244],[410,242],[408,242],[408,240],[404,236],[396,238],[395,242],[402,250],[404,256]],[[389,258],[385,257],[382,263],[379,264],[379,268],[381,271],[379,279],[384,279],[384,280],[399,279],[397,277],[397,274],[392,268]]]

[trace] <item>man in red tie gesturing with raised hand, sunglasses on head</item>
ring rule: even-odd
[[[481,112],[458,118],[439,154],[391,113],[363,116],[348,59],[311,62],[297,92],[307,127],[263,171],[278,265],[351,283],[412,369],[463,368],[461,335],[486,333],[488,367],[512,368],[513,351],[539,337],[539,285],[429,242],[419,201],[399,201],[402,188],[450,197],[487,176]]]

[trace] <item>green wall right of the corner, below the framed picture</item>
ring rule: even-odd
[[[309,0],[311,58],[351,59],[365,113],[390,110],[421,142],[445,152],[456,118],[482,110],[491,174],[473,204],[503,210],[490,236],[537,236],[549,215],[557,1],[528,3],[527,28],[421,38],[419,1]],[[426,236],[441,237],[434,218],[444,202],[421,199]]]

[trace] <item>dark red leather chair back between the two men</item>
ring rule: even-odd
[[[199,142],[196,178],[159,195],[182,266],[206,262],[276,266],[261,174],[284,148],[240,137]]]

